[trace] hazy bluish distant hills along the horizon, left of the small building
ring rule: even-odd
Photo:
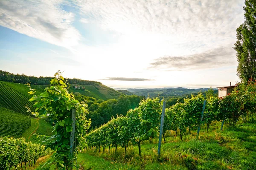
[[[127,91],[132,92],[138,96],[150,96],[150,97],[170,97],[170,96],[184,96],[186,94],[195,94],[198,92],[205,92],[209,88],[197,88],[197,89],[189,89],[189,88],[151,88],[151,89],[136,89],[136,88],[129,88]],[[217,89],[213,89],[217,90]]]

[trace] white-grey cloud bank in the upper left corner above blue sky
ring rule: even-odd
[[[29,37],[71,48],[80,40],[72,26],[74,14],[61,8],[62,0],[0,0],[0,25]]]

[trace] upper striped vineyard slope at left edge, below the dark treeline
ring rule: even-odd
[[[4,82],[0,82],[0,106],[26,115],[28,114],[26,106],[31,108],[32,111],[35,110],[32,103],[29,102],[29,96],[20,94]]]

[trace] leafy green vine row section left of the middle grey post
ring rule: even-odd
[[[128,111],[127,116],[113,118],[107,124],[87,134],[85,136],[87,145],[119,145],[126,148],[131,141],[140,146],[142,141],[157,135],[160,114],[161,106],[158,98],[143,100],[138,108]]]

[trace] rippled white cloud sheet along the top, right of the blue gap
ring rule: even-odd
[[[223,35],[242,21],[244,0],[78,0],[81,14],[123,33]],[[239,16],[238,16],[239,14]]]

